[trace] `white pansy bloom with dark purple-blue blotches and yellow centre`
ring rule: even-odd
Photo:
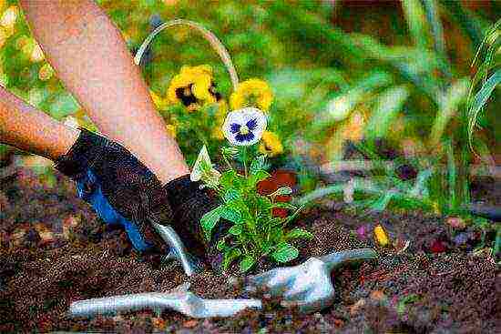
[[[245,107],[228,114],[223,133],[233,145],[251,146],[261,140],[266,125],[266,116],[260,109]]]

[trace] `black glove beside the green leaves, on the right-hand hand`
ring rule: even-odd
[[[210,194],[210,190],[200,189],[200,185],[200,182],[192,182],[186,175],[165,186],[173,212],[172,224],[183,240],[191,245],[203,245],[203,248],[188,247],[189,251],[205,258],[212,268],[219,270],[222,256],[216,248],[217,242],[230,229],[230,222],[221,219],[212,231],[210,240],[204,238],[200,219],[218,207],[220,201]]]

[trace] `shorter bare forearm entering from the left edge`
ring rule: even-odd
[[[75,143],[78,133],[0,86],[0,142],[56,160]]]

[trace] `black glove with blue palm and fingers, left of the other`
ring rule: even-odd
[[[169,223],[172,212],[157,177],[125,147],[81,129],[56,169],[77,182],[78,196],[107,224],[123,226],[140,252],[165,248],[148,219]]]

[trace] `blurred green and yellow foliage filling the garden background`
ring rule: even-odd
[[[230,51],[240,80],[259,77],[270,84],[275,96],[270,129],[285,149],[274,164],[298,169],[305,190],[318,186],[309,167],[343,158],[347,139],[365,139],[371,149],[371,142],[384,138],[403,157],[427,161],[419,171],[435,166],[429,178],[436,188],[435,206],[438,201],[443,210],[454,211],[468,200],[468,166],[476,159],[468,148],[470,76],[480,73],[474,76],[475,85],[487,72],[498,77],[492,67],[470,65],[484,35],[499,35],[498,25],[492,30],[500,13],[496,1],[97,3],[118,25],[132,53],[154,27],[173,18],[196,21],[217,35]],[[40,54],[22,13],[12,8],[17,8],[16,1],[0,0],[0,83],[56,118],[74,115],[88,125]],[[12,13],[5,15],[9,10],[15,19]],[[495,46],[498,50],[499,38]],[[485,47],[480,53],[482,59],[499,56]],[[151,91],[161,99],[181,66],[204,64],[212,66],[218,92],[228,98],[231,84],[225,67],[209,43],[189,28],[158,35],[141,66]],[[179,107],[163,107],[162,115],[169,121],[169,110],[178,108],[179,115]],[[499,152],[501,120],[496,103],[480,109],[485,112],[473,110],[475,124],[482,127],[473,146],[492,161],[490,150]],[[210,118],[188,117],[193,119],[181,127],[192,127],[187,129],[191,133],[210,127]],[[184,136],[179,142],[193,157],[203,140]],[[209,145],[210,154],[216,147]]]

